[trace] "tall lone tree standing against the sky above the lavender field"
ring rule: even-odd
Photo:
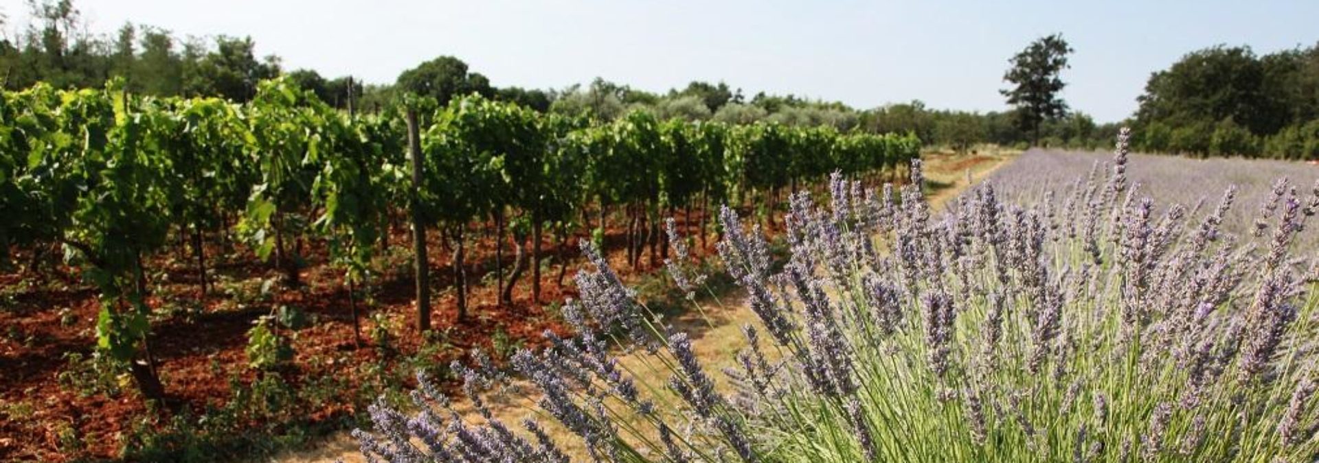
[[[1067,85],[1060,78],[1067,68],[1071,46],[1062,34],[1041,37],[1009,59],[1012,68],[1002,80],[1014,87],[998,91],[1008,104],[1017,108],[1017,122],[1031,133],[1031,143],[1039,143],[1039,125],[1067,113],[1067,103],[1058,92]]]

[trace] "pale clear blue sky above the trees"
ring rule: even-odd
[[[455,55],[496,85],[595,76],[649,91],[724,80],[856,108],[919,99],[1002,109],[1006,61],[1062,32],[1064,97],[1099,121],[1136,109],[1149,74],[1216,43],[1269,53],[1319,41],[1319,1],[75,0],[92,32],[125,21],[179,36],[251,36],[286,68],[393,82]],[[22,0],[0,0],[11,22]]]

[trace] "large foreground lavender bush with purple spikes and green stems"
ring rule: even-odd
[[[1070,188],[1005,203],[1028,187],[1000,176],[938,214],[919,162],[897,195],[835,175],[827,205],[791,199],[780,271],[723,209],[720,256],[760,318],[731,387],[590,245],[565,309],[578,337],[546,333],[553,347],[513,368],[592,460],[1314,460],[1319,275],[1298,243],[1319,192],[1278,183],[1249,212],[1254,239],[1224,228],[1252,207],[1242,191],[1161,204],[1125,141]],[[649,351],[627,367],[636,345]],[[423,387],[413,416],[372,409],[363,452],[568,459],[542,422],[481,402],[512,384],[487,362],[454,368],[480,417]]]

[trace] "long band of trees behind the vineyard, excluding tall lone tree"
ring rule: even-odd
[[[917,132],[929,145],[956,150],[987,142],[1030,142],[1030,129],[1021,129],[1012,112],[931,110],[918,101],[861,110],[795,95],[747,95],[723,82],[691,82],[666,92],[599,78],[561,89],[497,87],[455,57],[437,57],[405,70],[393,83],[372,84],[352,76],[323,76],[314,70],[286,70],[277,55],[259,57],[256,43],[248,37],[178,37],[162,28],[133,24],[115,34],[98,36],[88,32],[73,0],[32,3],[30,17],[30,24],[16,37],[0,37],[0,78],[11,91],[37,82],[61,89],[92,88],[121,78],[124,88],[136,95],[249,101],[259,82],[285,75],[336,109],[347,109],[352,101],[359,112],[386,110],[401,95],[422,95],[446,104],[455,95],[477,93],[538,112],[608,121],[645,110],[687,121]],[[1067,121],[1046,122],[1043,141],[1058,146],[1099,146],[1112,138],[1108,126],[1096,129],[1084,114],[1068,114]]]

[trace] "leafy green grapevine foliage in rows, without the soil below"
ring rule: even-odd
[[[689,225],[698,216],[704,239],[711,205],[753,204],[768,214],[787,191],[834,171],[872,182],[896,175],[919,146],[910,134],[646,110],[601,121],[479,93],[446,104],[406,95],[388,110],[357,113],[288,76],[259,82],[245,103],[142,96],[121,79],[83,89],[38,83],[0,92],[0,264],[18,250],[38,267],[62,249],[100,293],[98,349],[144,397],[160,399],[146,267],[170,235],[189,242],[202,297],[211,291],[207,243],[249,250],[298,285],[302,243],[323,242],[357,329],[356,295],[376,271],[373,256],[397,245],[392,224],[410,221],[417,326],[427,330],[427,233],[454,250],[462,320],[474,230],[497,242],[501,301],[512,304],[528,271],[537,304],[545,245],[562,259],[570,238],[623,230],[628,260],[654,266],[669,249],[665,216],[685,214]]]

